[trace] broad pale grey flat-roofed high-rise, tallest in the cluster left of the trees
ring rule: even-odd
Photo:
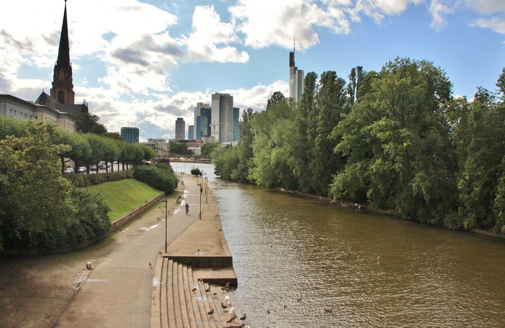
[[[214,93],[211,103],[211,127],[214,142],[233,141],[233,97],[228,93]]]

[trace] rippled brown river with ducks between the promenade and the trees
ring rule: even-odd
[[[214,183],[238,278],[231,298],[250,327],[505,327],[503,240],[195,167]]]

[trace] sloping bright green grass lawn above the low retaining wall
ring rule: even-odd
[[[90,185],[88,191],[102,195],[107,205],[111,208],[111,212],[109,212],[111,222],[130,213],[146,201],[150,201],[162,193],[148,184],[135,179]]]

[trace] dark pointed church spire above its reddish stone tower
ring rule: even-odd
[[[58,60],[56,61],[55,71],[53,74],[51,98],[60,104],[73,105],[75,101],[75,92],[74,84],[72,82],[72,63],[70,62],[70,46],[67,23],[67,0],[65,0],[65,12],[63,14],[60,48],[58,49]]]

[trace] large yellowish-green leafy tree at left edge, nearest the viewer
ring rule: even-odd
[[[59,165],[70,147],[57,143],[59,126],[25,124],[26,136],[0,140],[0,250],[53,248],[74,215],[71,184]]]

